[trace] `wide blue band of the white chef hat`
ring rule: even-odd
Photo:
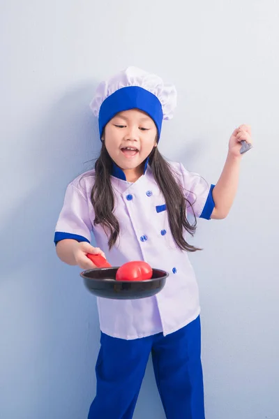
[[[118,112],[130,109],[142,110],[153,119],[159,139],[163,122],[162,105],[155,94],[137,86],[122,87],[103,101],[99,113],[100,137],[103,135],[104,128],[107,122],[110,122],[110,119]]]

